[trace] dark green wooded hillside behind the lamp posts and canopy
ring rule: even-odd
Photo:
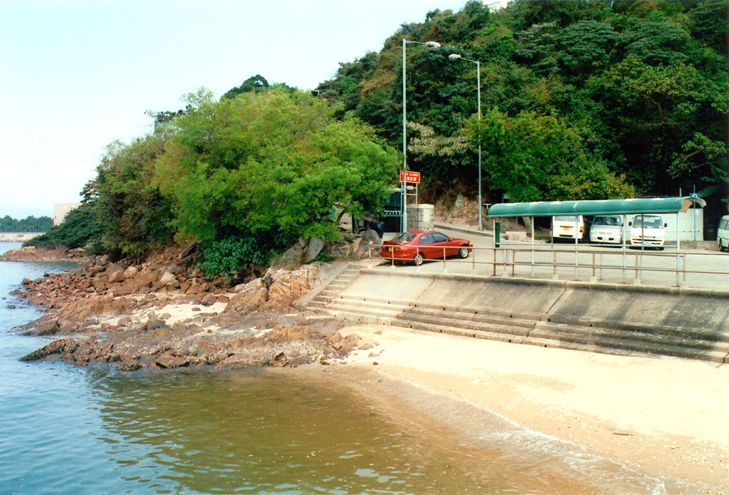
[[[507,149],[483,141],[483,156],[526,160],[502,163],[506,171],[484,165],[483,186],[496,198],[613,197],[631,187],[675,195],[693,184],[728,194],[712,173],[729,141],[728,20],[727,0],[515,0],[497,11],[468,2],[402,24],[379,52],[343,63],[320,89],[400,148],[402,39],[440,42],[438,52],[409,44],[406,61],[408,166],[423,173],[426,194],[476,190],[475,149],[445,145],[463,136],[476,103],[475,67],[448,61],[451,52],[480,61],[482,107],[498,108],[515,133]],[[521,136],[529,132],[545,141]],[[534,149],[516,152],[522,145]],[[572,155],[555,152],[565,147]]]

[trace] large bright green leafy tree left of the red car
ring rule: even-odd
[[[335,208],[354,217],[377,210],[397,174],[397,152],[306,93],[196,98],[194,106],[176,120],[155,184],[173,203],[178,235],[203,243],[208,269],[228,270],[217,261],[227,255],[260,263],[251,246],[270,252],[300,236],[332,238]]]

